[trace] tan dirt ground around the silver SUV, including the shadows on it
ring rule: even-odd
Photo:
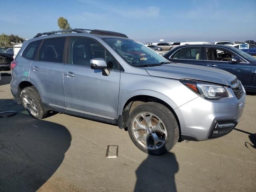
[[[255,192],[256,96],[246,98],[240,123],[209,141],[181,142],[163,156],[149,156],[117,126],[52,113],[32,118],[0,80],[0,191]],[[108,145],[118,157],[106,158]]]

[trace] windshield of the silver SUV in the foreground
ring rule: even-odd
[[[103,38],[124,60],[132,66],[155,66],[170,63],[157,52],[134,40],[125,38]]]

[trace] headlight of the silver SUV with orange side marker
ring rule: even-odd
[[[206,99],[219,99],[229,96],[226,87],[221,85],[206,84],[193,80],[180,80],[180,82]]]

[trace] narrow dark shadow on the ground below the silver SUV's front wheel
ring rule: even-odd
[[[137,181],[134,191],[176,192],[175,173],[178,170],[174,153],[168,152],[162,156],[148,155],[136,170]]]

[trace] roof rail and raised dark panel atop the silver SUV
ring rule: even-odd
[[[128,38],[128,36],[126,36],[125,34],[114,32],[114,31],[105,31],[105,30],[98,30],[98,29],[91,30],[91,29],[80,29],[80,28],[38,33],[33,38],[40,37],[42,35],[52,35],[52,34],[63,33],[63,32],[88,33],[87,31],[91,31],[90,34],[95,34],[95,35],[109,35],[109,36],[118,36],[118,37]]]

